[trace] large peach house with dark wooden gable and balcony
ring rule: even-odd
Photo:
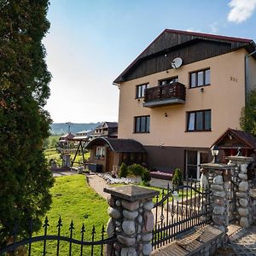
[[[166,29],[113,81],[119,86],[119,139],[143,144],[148,166],[179,167],[199,178],[210,146],[256,88],[251,39]],[[129,111],[127,111],[129,109]]]

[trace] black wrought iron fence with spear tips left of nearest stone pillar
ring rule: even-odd
[[[90,232],[90,241],[85,240],[85,226],[82,225],[82,228],[80,230],[80,239],[74,239],[73,238],[73,230],[74,230],[74,224],[73,220],[71,221],[69,225],[69,236],[61,236],[61,227],[62,227],[62,221],[61,217],[59,218],[58,224],[56,225],[57,228],[57,235],[48,235],[48,228],[49,228],[49,220],[46,217],[44,220],[44,235],[43,236],[32,236],[32,222],[29,224],[29,230],[30,235],[29,237],[18,240],[17,239],[17,230],[14,229],[14,232],[12,234],[13,242],[9,244],[6,247],[0,248],[0,255],[9,255],[7,253],[11,253],[12,255],[19,255],[16,254],[16,250],[18,250],[19,247],[24,247],[26,249],[26,255],[31,256],[32,253],[32,243],[37,241],[43,241],[43,253],[40,253],[40,255],[47,255],[47,241],[56,241],[56,247],[55,247],[55,255],[59,256],[60,254],[60,244],[61,241],[66,241],[68,243],[68,254],[65,255],[73,255],[73,244],[79,245],[79,253],[76,253],[76,255],[104,255],[104,245],[108,245],[108,251],[110,252],[110,255],[114,255],[114,249],[113,249],[113,243],[116,241],[116,237],[110,237],[110,238],[104,238],[106,235],[106,230],[104,225],[102,225],[102,230],[98,233],[100,233],[101,239],[96,241],[96,228],[95,225],[93,225],[92,230]],[[84,252],[84,247],[89,247],[89,250]],[[95,250],[95,247],[97,247],[97,251]],[[96,252],[95,252],[96,251]],[[52,254],[51,254],[52,255]]]

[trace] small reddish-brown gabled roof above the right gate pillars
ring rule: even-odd
[[[230,140],[230,148],[241,148],[240,145],[243,145],[243,148],[252,148],[256,149],[256,137],[251,133],[245,131],[238,131],[235,129],[229,128],[224,134],[218,138],[218,140],[212,144],[218,145],[219,148],[227,148],[225,144],[227,140]],[[232,141],[234,143],[232,143]],[[212,148],[211,146],[211,148]]]

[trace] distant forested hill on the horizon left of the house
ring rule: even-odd
[[[75,124],[72,123],[70,126],[71,133],[76,133],[78,131],[91,130],[94,129],[97,125],[102,124],[101,122],[89,123],[89,124]],[[53,123],[50,125],[51,135],[62,135],[66,134],[68,131],[68,125],[66,123]]]

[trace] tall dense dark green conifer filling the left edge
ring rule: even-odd
[[[51,74],[42,44],[48,0],[0,2],[0,247],[15,224],[20,236],[40,227],[54,179],[44,159]]]

